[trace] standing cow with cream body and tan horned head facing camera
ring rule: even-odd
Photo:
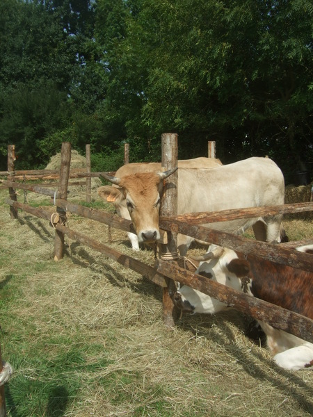
[[[159,208],[163,179],[175,172],[142,172],[124,177],[104,177],[120,188],[100,187],[98,193],[107,202],[127,208],[139,243],[159,240]],[[248,158],[214,169],[178,168],[178,214],[220,211],[228,208],[275,206],[284,204],[284,177],[269,158]],[[122,214],[124,217],[124,214]],[[280,241],[281,216],[203,224],[229,233],[240,234],[252,226],[257,240]],[[182,256],[193,241],[178,236]]]

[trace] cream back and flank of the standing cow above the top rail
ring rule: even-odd
[[[214,170],[179,168],[177,194],[179,214],[284,204],[284,177],[269,158]]]

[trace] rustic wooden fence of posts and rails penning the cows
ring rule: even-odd
[[[13,146],[13,145],[11,145]],[[61,152],[61,170],[59,174],[54,172],[54,176],[60,178],[57,190],[49,190],[42,186],[31,185],[16,181],[19,179],[19,172],[14,172],[14,148],[8,149],[8,180],[3,181],[3,186],[8,188],[10,198],[6,202],[10,206],[10,213],[13,218],[17,217],[17,210],[22,209],[27,213],[31,213],[39,218],[54,223],[56,236],[54,240],[54,259],[58,261],[63,257],[64,236],[67,235],[73,240],[77,240],[83,245],[92,247],[101,252],[105,256],[118,261],[127,268],[144,275],[150,281],[163,288],[163,318],[166,325],[172,327],[174,325],[175,309],[170,298],[170,291],[175,288],[174,281],[181,284],[191,286],[202,293],[211,295],[212,297],[225,302],[229,306],[233,306],[239,311],[248,313],[250,316],[268,322],[270,325],[282,329],[286,332],[294,334],[300,338],[313,343],[313,320],[300,316],[298,313],[282,309],[274,304],[264,302],[254,297],[250,297],[232,288],[225,287],[214,281],[195,275],[184,268],[180,268],[175,260],[168,260],[166,254],[175,254],[175,237],[178,233],[192,236],[199,240],[210,243],[216,243],[225,247],[245,254],[247,259],[257,261],[257,259],[267,259],[268,262],[279,263],[280,265],[289,265],[291,268],[298,268],[305,271],[313,272],[312,259],[310,255],[294,250],[294,247],[300,244],[313,243],[313,239],[303,240],[301,242],[293,242],[280,245],[271,245],[269,243],[249,240],[241,236],[234,236],[225,232],[202,227],[199,224],[203,222],[216,222],[225,220],[234,220],[236,218],[255,217],[256,215],[274,215],[278,213],[303,213],[304,211],[313,211],[313,203],[288,204],[284,206],[261,207],[261,208],[245,208],[232,211],[220,211],[216,213],[196,213],[188,215],[179,215],[172,212],[172,206],[175,206],[175,193],[170,195],[168,190],[175,190],[172,183],[175,183],[175,175],[168,178],[170,187],[166,188],[165,195],[170,195],[169,200],[165,200],[161,204],[160,227],[163,230],[161,235],[161,259],[155,261],[154,268],[150,265],[138,261],[131,256],[113,250],[113,248],[103,243],[99,243],[86,235],[74,231],[65,226],[66,213],[77,213],[83,217],[102,222],[125,231],[132,231],[131,222],[119,218],[111,213],[104,213],[95,209],[90,209],[79,204],[73,204],[67,201],[67,186],[70,178],[80,177],[99,177],[101,173],[92,172],[71,172],[70,171],[70,143],[64,142]],[[13,161],[11,161],[12,159]],[[177,164],[177,135],[165,133],[162,135],[162,166],[170,169]],[[47,172],[40,172],[41,178],[45,178]],[[50,173],[51,174],[51,173]],[[26,173],[22,174],[26,175]],[[32,173],[35,175],[35,172]],[[38,177],[37,177],[38,178]],[[17,202],[15,189],[26,189],[35,193],[42,193],[54,197],[56,206],[56,215],[51,219],[51,213],[42,208],[33,208],[28,204]],[[175,257],[175,256],[174,256]]]

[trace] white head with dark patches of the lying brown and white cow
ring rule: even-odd
[[[239,259],[233,250],[211,245],[207,254],[196,260],[202,261],[195,274],[213,279],[241,291],[241,278],[249,272],[248,262]],[[187,313],[214,314],[226,309],[227,305],[189,286],[182,286],[173,296],[175,305]]]

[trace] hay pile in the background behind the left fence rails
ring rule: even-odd
[[[72,149],[71,151],[71,163],[70,163],[70,170],[74,168],[86,168],[86,157],[80,155],[77,151]],[[50,158],[50,161],[45,168],[46,170],[60,170],[61,167],[61,152],[56,154]],[[79,181],[79,180],[76,180]],[[83,181],[81,179],[80,181]],[[91,179],[91,190],[95,193],[98,187],[102,186],[102,182],[99,178],[92,178]],[[71,195],[73,193],[85,193],[86,186],[70,186],[69,187]],[[92,196],[93,197],[93,196]]]

